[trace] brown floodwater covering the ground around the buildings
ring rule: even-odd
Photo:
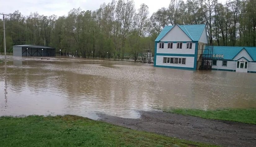
[[[0,59],[3,59],[0,56]],[[189,71],[77,58],[0,63],[0,115],[97,113],[137,118],[168,107],[256,107],[256,74]]]

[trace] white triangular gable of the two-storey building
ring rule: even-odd
[[[182,29],[175,25],[160,41],[192,41]]]

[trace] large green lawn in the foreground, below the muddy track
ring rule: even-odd
[[[0,117],[0,146],[213,146],[79,116]]]

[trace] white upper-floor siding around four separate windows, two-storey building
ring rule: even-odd
[[[171,42],[171,41],[170,41]],[[182,49],[177,49],[177,43],[173,43],[172,49],[167,49],[168,43],[164,43],[164,48],[159,49],[159,43],[157,43],[156,53],[164,54],[195,54],[195,43],[192,43],[192,49],[186,49],[186,43],[182,43]]]

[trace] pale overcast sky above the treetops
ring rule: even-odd
[[[39,15],[57,16],[67,15],[73,8],[81,7],[82,10],[96,10],[102,3],[112,0],[0,0],[1,13],[13,13],[19,10],[22,15],[30,12],[38,12]],[[218,0],[225,3],[226,0]],[[162,7],[168,7],[170,0],[134,0],[135,8],[138,9],[142,3],[149,7],[150,15]]]

